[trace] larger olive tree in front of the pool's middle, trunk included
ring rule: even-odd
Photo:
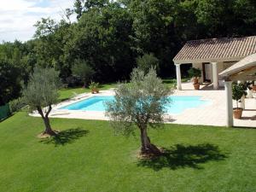
[[[160,149],[150,142],[148,127],[163,125],[171,93],[153,68],[147,74],[136,68],[131,73],[131,83],[119,84],[115,99],[106,102],[106,115],[116,131],[129,135],[136,127],[139,129],[142,154],[160,154]]]

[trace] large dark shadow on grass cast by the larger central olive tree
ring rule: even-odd
[[[200,145],[183,146],[177,144],[175,147],[164,148],[165,153],[151,159],[139,160],[137,166],[145,166],[159,171],[162,168],[176,170],[178,168],[192,167],[202,169],[202,163],[211,160],[224,160],[227,158],[222,154],[218,146],[209,143]]]

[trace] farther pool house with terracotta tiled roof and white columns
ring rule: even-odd
[[[188,41],[173,58],[176,65],[177,89],[182,90],[180,65],[191,64],[201,69],[200,83],[211,82],[214,89],[222,85],[227,68],[256,53],[256,36],[245,38],[209,38]]]

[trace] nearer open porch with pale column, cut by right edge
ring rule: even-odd
[[[248,55],[241,61],[237,62],[230,68],[219,73],[224,79],[225,84],[225,102],[226,102],[226,125],[227,126],[253,126],[256,127],[256,91],[253,91],[253,95],[247,98],[242,97],[240,102],[240,108],[243,108],[243,114],[241,119],[233,119],[233,108],[235,103],[232,100],[232,83],[245,83],[252,81],[253,84],[256,80],[256,53]]]

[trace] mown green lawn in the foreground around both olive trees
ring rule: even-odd
[[[41,140],[26,112],[0,123],[0,191],[256,191],[256,130],[166,125],[151,141],[169,154],[137,160],[139,137],[114,136],[107,121],[51,119],[58,139]]]

